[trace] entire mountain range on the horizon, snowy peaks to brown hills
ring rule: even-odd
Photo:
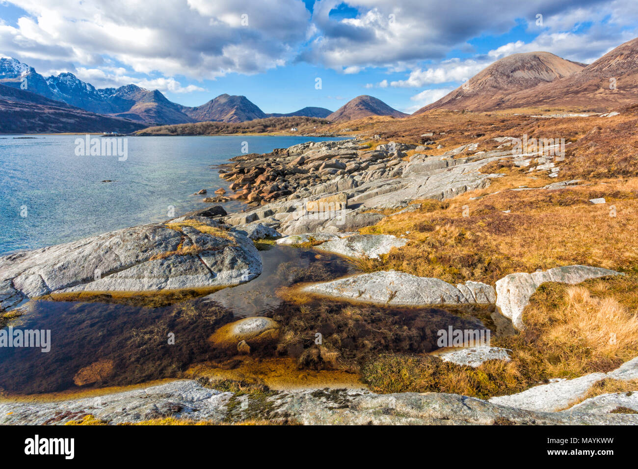
[[[9,57],[0,57],[0,87],[0,115],[3,115],[0,131],[91,128],[124,132],[157,124],[241,123],[267,117],[306,116],[342,122],[375,115],[408,116],[367,95],[357,96],[335,112],[304,107],[288,114],[265,114],[246,96],[229,94],[221,94],[201,106],[188,107],[168,100],[158,90],[149,91],[134,84],[97,89],[73,73],[45,78],[33,67]],[[635,38],[589,65],[549,52],[512,54],[413,115],[437,109],[486,112],[524,107],[604,112],[637,101],[638,38]],[[27,118],[29,113],[33,114],[31,118]]]

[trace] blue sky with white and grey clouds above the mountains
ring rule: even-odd
[[[591,63],[638,36],[638,0],[0,0],[0,56],[197,106],[412,113],[517,52]]]

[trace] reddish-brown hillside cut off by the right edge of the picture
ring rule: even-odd
[[[616,89],[612,89],[612,79]],[[602,112],[636,101],[638,38],[619,45],[579,73],[512,94],[503,107],[542,105]]]

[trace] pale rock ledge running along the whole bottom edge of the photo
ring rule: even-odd
[[[215,389],[207,380],[177,380],[144,389],[94,398],[54,402],[2,402],[0,424],[56,424],[87,416],[103,424],[150,419],[188,419],[211,423],[272,421],[304,425],[636,425],[638,415],[613,413],[618,406],[635,409],[638,394],[603,394],[561,410],[584,395],[582,381],[593,373],[560,380],[528,391],[483,399],[429,392],[375,394],[366,389],[308,389],[235,393]],[[607,373],[620,379],[638,377],[638,359]],[[547,387],[560,387],[552,392]]]

